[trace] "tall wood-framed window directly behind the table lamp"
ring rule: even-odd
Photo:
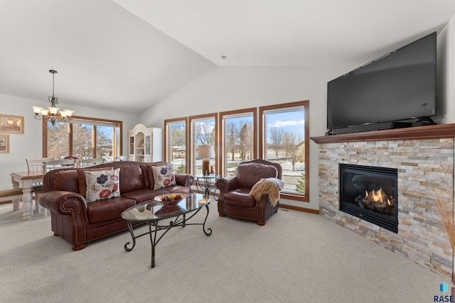
[[[200,146],[207,147],[206,149],[213,150],[213,153],[208,155],[210,165],[213,165],[213,170],[218,170],[217,165],[217,132],[216,126],[218,125],[218,119],[216,114],[208,114],[202,116],[190,117],[191,123],[191,174],[200,175],[202,171],[203,155],[201,155],[202,149]]]

